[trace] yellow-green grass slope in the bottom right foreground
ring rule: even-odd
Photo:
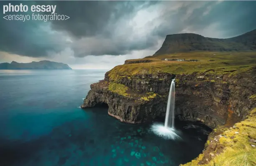
[[[207,164],[202,164],[203,154],[198,158],[182,166],[256,166],[256,108],[251,111],[246,120],[236,123],[233,128],[219,127],[215,129],[223,130],[210,141],[216,141],[219,151],[210,155],[214,156]]]

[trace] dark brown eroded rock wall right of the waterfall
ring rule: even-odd
[[[255,102],[249,99],[256,93],[253,73],[255,69],[250,74],[230,77],[225,74],[177,75],[176,114],[182,119],[201,120],[211,128],[233,125],[255,107]]]

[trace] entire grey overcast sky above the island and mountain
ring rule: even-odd
[[[50,60],[72,69],[111,69],[153,55],[168,34],[229,38],[256,29],[256,1],[1,1],[56,5],[68,20],[5,20],[0,63]],[[22,13],[23,15],[31,14]],[[50,14],[50,13],[41,13]]]

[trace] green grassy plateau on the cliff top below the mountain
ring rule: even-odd
[[[196,59],[198,61],[165,61],[164,59]],[[148,62],[145,62],[148,60]],[[131,63],[134,61],[135,63]],[[256,52],[190,52],[147,56],[143,59],[127,60],[125,64],[110,70],[110,78],[118,76],[133,77],[136,74],[170,73],[182,74],[205,72],[214,69],[218,73],[239,73],[256,66]]]

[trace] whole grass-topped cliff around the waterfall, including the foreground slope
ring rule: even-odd
[[[202,154],[185,166],[222,166],[241,156],[255,164],[255,52],[185,51],[127,60],[91,85],[81,107],[107,104],[108,114],[125,123],[164,117],[174,77],[176,118],[214,129]],[[243,163],[233,163],[238,165]]]

